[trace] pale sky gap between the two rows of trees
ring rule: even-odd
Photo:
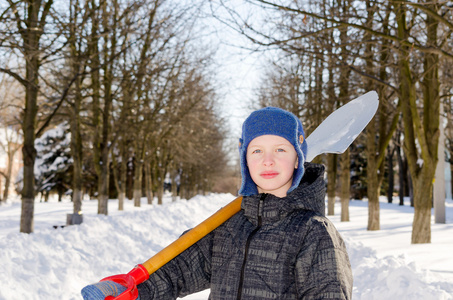
[[[215,6],[215,4],[213,4]],[[235,12],[247,15],[250,6],[241,0],[228,1]],[[219,17],[227,18],[225,10],[213,8]],[[256,11],[256,9],[255,9]],[[212,16],[211,6],[204,6],[204,18],[200,18],[200,27],[205,35],[203,41],[210,40],[216,49],[214,55],[215,73],[218,80],[216,92],[219,97],[221,116],[229,125],[228,139],[236,140],[241,134],[241,125],[253,111],[255,90],[258,88],[265,64],[262,52],[253,52],[256,48],[243,35],[239,34],[219,19]]]

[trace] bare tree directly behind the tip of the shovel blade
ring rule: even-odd
[[[367,1],[366,26],[372,27],[376,16],[382,19],[382,32],[389,34],[389,19],[391,4],[388,3],[386,10],[382,10],[373,1]],[[366,153],[367,153],[367,195],[368,195],[368,230],[380,229],[379,217],[379,194],[384,179],[384,159],[386,148],[395,132],[399,119],[399,109],[393,107],[392,98],[396,88],[391,86],[391,76],[386,68],[392,61],[388,40],[373,41],[373,35],[369,32],[364,34],[365,50],[364,71],[370,76],[364,77],[364,84],[376,87],[380,105],[377,117],[373,118],[367,127]],[[375,53],[378,59],[375,59]],[[392,170],[389,170],[392,172]]]

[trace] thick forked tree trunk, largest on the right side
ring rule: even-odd
[[[436,11],[436,5],[428,5]],[[407,39],[406,14],[403,4],[397,4],[398,37]],[[426,18],[427,44],[437,44],[437,20],[428,14]],[[413,182],[414,222],[412,243],[431,242],[432,188],[437,165],[439,142],[439,78],[438,56],[425,53],[423,78],[423,106],[417,102],[416,86],[410,69],[407,45],[401,46],[399,66],[401,80],[401,100],[403,102],[404,147],[408,157],[409,170]],[[422,107],[422,116],[419,109]],[[420,164],[419,161],[423,163]]]

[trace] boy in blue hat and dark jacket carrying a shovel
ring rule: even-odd
[[[293,114],[253,112],[239,146],[241,211],[151,274],[138,286],[140,299],[207,288],[210,299],[351,299],[348,254],[324,217],[324,167],[305,163],[304,138]],[[103,299],[122,290],[100,282],[82,294]]]

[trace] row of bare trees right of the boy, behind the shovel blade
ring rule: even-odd
[[[247,2],[248,12],[238,13],[228,1],[217,3],[213,11],[248,37],[254,50],[272,51],[273,68],[259,90],[262,104],[293,111],[310,132],[333,109],[366,91],[378,92],[379,111],[362,141],[367,154],[368,229],[380,228],[378,197],[392,143],[404,150],[413,186],[412,243],[429,243],[440,105],[449,117],[452,112],[451,2]],[[335,155],[326,157],[326,165],[328,213],[333,214],[339,186],[342,220],[347,221],[349,151],[340,156],[339,168]]]

